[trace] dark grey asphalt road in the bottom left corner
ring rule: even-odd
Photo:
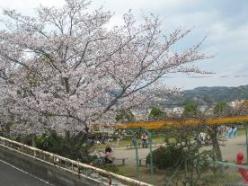
[[[51,186],[51,184],[0,160],[0,186]]]

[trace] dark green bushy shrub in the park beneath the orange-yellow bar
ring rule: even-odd
[[[165,185],[204,184],[203,173],[210,168],[211,151],[203,150],[202,144],[192,140],[199,132],[200,128],[193,127],[170,128],[166,131],[166,146],[152,152],[153,164],[167,170]],[[150,163],[150,154],[146,162]]]

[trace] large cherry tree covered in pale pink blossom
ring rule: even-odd
[[[86,0],[39,7],[34,16],[4,11],[0,101],[16,129],[87,131],[114,122],[118,110],[148,105],[148,90],[169,73],[204,73],[192,64],[206,58],[202,42],[174,47],[190,30],[165,34],[157,17],[139,23],[131,11],[109,28],[111,17]]]

